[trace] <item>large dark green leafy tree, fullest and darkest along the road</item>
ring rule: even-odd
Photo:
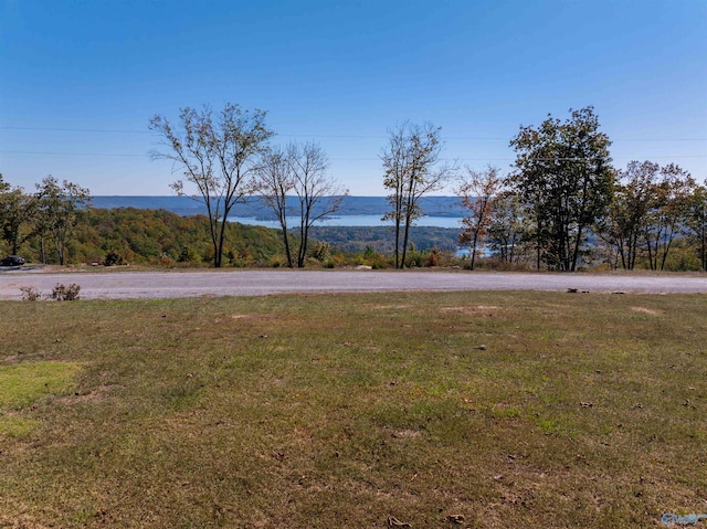
[[[581,265],[592,225],[611,203],[615,170],[609,137],[591,106],[560,121],[521,127],[510,141],[516,171],[508,179],[532,226],[537,266],[573,272]]]

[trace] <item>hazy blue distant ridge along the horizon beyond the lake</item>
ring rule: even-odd
[[[205,214],[205,207],[188,197],[94,197],[94,208],[137,208],[141,210],[167,210],[182,216]],[[457,197],[425,197],[420,205],[424,214],[430,216],[464,216],[465,210],[460,205]],[[386,197],[345,197],[342,215],[383,215],[390,209]],[[258,197],[247,197],[244,203],[234,208],[234,216],[252,216],[256,219],[274,219],[272,211]]]

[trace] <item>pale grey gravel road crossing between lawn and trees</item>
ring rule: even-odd
[[[567,290],[707,293],[707,276],[695,274],[532,274],[466,271],[50,272],[1,268],[0,299],[21,299],[21,287],[51,293],[56,284],[81,286],[82,299],[146,299],[262,296],[285,293],[392,290]]]

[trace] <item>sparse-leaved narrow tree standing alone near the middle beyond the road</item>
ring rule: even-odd
[[[410,228],[422,216],[420,199],[441,189],[455,170],[440,159],[440,130],[430,123],[420,126],[405,121],[389,130],[389,146],[380,155],[383,186],[390,191],[388,202],[392,208],[382,220],[394,223],[397,268],[405,264]]]

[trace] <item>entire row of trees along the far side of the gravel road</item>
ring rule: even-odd
[[[270,207],[281,225],[285,264],[303,267],[310,250],[321,253],[309,247],[316,221],[338,211],[348,194],[328,172],[320,145],[273,146],[275,133],[265,117],[263,110],[226,103],[218,113],[209,106],[182,108],[175,124],[161,115],[149,121],[162,139],[152,158],[171,160],[182,174],[171,188],[205,207],[210,250],[197,254],[208,255],[215,267],[239,261],[228,219],[246,197],[260,195]],[[496,167],[461,169],[444,160],[441,128],[430,123],[390,129],[379,157],[389,193],[382,220],[393,223],[392,265],[420,261],[408,253],[411,230],[425,213],[422,199],[454,184],[468,213],[458,236],[469,248],[468,268],[477,266],[483,250],[487,260],[508,266],[659,271],[671,250],[687,242],[707,269],[706,187],[674,163],[632,161],[615,169],[610,146],[591,106],[570,110],[564,120],[549,115],[538,127],[520,127],[510,140],[516,161],[505,176]],[[51,176],[31,194],[0,176],[2,240],[13,254],[32,241],[42,263],[65,264],[67,242],[88,202],[87,189]]]

